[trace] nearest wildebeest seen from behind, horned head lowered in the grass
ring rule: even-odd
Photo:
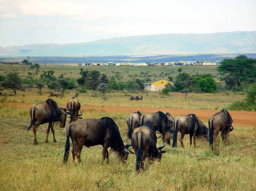
[[[156,131],[150,122],[146,122],[145,125],[134,129],[131,143],[136,153],[137,172],[139,172],[140,168],[144,169],[144,162],[146,158],[148,158],[150,161],[161,160],[162,153],[166,152],[161,151],[165,145],[157,148]]]

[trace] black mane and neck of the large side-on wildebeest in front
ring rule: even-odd
[[[120,151],[123,149],[124,142],[121,138],[119,129],[117,124],[111,119],[110,117],[103,117],[99,119],[99,127],[100,127],[100,134],[106,135],[106,131],[110,129],[110,147],[113,148],[115,151]]]

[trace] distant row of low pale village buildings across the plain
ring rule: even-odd
[[[214,66],[220,65],[221,61],[179,61],[179,62],[84,62],[68,64],[73,66]],[[25,65],[22,61],[0,61],[0,65]],[[45,65],[45,64],[44,64]]]

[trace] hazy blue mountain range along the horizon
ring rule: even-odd
[[[256,53],[256,31],[157,34],[75,44],[0,47],[0,56],[111,56]]]

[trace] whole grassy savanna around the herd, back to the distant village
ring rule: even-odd
[[[79,77],[78,67],[42,66],[42,70],[55,70],[56,76]],[[91,69],[91,67],[89,67]],[[96,68],[93,68],[96,69]],[[167,70],[168,69],[168,70]],[[162,72],[177,74],[177,68],[148,67],[99,67],[101,73],[111,75],[123,73],[123,80],[149,70],[161,77]],[[0,66],[0,74],[16,70],[22,75],[28,73],[28,66]],[[126,72],[125,72],[126,71]],[[173,72],[171,72],[173,71]],[[188,73],[211,73],[218,81],[215,67],[183,67]],[[66,73],[66,74],[65,74]],[[39,76],[39,75],[38,75]],[[37,77],[37,76],[35,76]],[[156,78],[157,78],[156,77]],[[4,90],[9,91],[11,90]],[[37,129],[38,145],[33,145],[33,133],[27,132],[30,124],[29,108],[34,103],[48,98],[50,90],[43,88],[43,95],[37,89],[17,91],[16,96],[0,97],[0,190],[255,190],[256,189],[256,124],[255,112],[231,111],[231,116],[246,116],[240,121],[233,118],[234,130],[230,133],[228,145],[217,138],[215,149],[211,150],[207,140],[197,139],[197,148],[189,145],[189,137],[184,138],[185,148],[177,143],[177,148],[166,145],[161,162],[146,164],[145,171],[139,174],[134,171],[136,156],[130,154],[127,162],[122,164],[117,157],[110,155],[110,162],[102,164],[102,146],[84,147],[82,164],[72,162],[63,165],[66,131],[55,127],[57,143],[52,134],[49,143],[44,142],[47,125]],[[63,98],[53,98],[58,105],[64,107],[76,90],[68,90]],[[82,104],[83,118],[100,118],[108,116],[119,126],[124,143],[127,138],[127,116],[134,111],[156,112],[162,110],[171,115],[205,113],[203,123],[208,118],[231,103],[241,101],[244,95],[231,91],[215,94],[187,95],[186,101],[181,93],[168,96],[158,93],[136,93],[143,95],[143,101],[130,101],[127,91],[106,93],[103,100],[99,93],[93,97],[92,91],[79,93],[77,99]],[[239,115],[240,114],[240,115]],[[208,118],[207,118],[208,116]],[[200,117],[200,115],[199,115]],[[68,126],[68,120],[66,126]],[[251,121],[252,123],[245,123]],[[160,146],[158,139],[157,145]],[[71,146],[72,147],[72,146]]]

